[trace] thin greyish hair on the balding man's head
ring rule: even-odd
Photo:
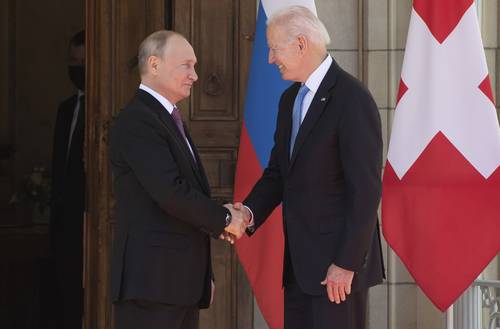
[[[174,31],[160,30],[151,33],[141,42],[139,46],[139,53],[137,55],[137,65],[139,66],[139,73],[142,75],[146,73],[148,58],[151,56],[163,57],[168,39],[174,35],[184,38],[180,33]]]

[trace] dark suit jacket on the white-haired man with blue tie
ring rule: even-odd
[[[253,211],[256,228],[283,203],[285,239],[304,292],[326,293],[320,282],[332,263],[356,272],[354,291],[378,284],[384,270],[377,225],[382,170],[377,106],[368,90],[333,61],[289,160],[299,87],[295,83],[281,96],[268,167],[244,203]]]

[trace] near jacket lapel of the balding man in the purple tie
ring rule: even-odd
[[[138,97],[143,101],[151,110],[153,110],[157,115],[160,121],[163,123],[169,134],[174,138],[176,144],[179,146],[179,148],[183,151],[182,153],[184,156],[187,158],[191,165],[191,169],[195,173],[196,178],[198,179],[198,182],[200,185],[206,190],[207,183],[205,183],[206,179],[202,179],[201,174],[199,172],[199,168],[194,161],[193,154],[189,150],[189,146],[187,145],[186,141],[184,140],[184,137],[181,135],[179,128],[177,128],[177,125],[175,124],[174,119],[172,116],[168,113],[168,111],[163,107],[163,105],[153,96],[151,96],[148,92],[139,89],[137,92]],[[185,133],[187,135],[187,129],[185,129]],[[189,137],[188,137],[189,139]],[[191,144],[191,147],[193,148],[193,152],[196,151],[194,148],[194,144],[189,141]],[[197,159],[199,161],[199,159]],[[208,192],[208,191],[206,191]]]

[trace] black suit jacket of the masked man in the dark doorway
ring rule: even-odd
[[[68,142],[77,95],[61,103],[57,111],[52,149],[51,242],[60,257],[82,261],[85,173],[83,145],[85,105],[80,104],[78,119],[68,153]]]

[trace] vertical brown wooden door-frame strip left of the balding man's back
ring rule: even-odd
[[[86,0],[87,207],[84,234],[84,328],[111,328],[109,306],[110,175],[107,130],[114,104],[113,1]]]

